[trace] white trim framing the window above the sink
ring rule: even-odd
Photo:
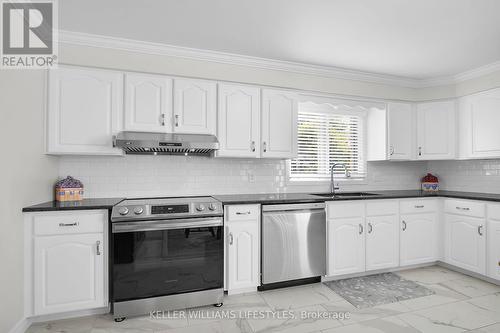
[[[307,104],[315,104],[316,107],[319,105],[324,108],[325,112],[332,112],[337,114],[352,114],[356,116],[360,116],[363,118],[362,124],[362,135],[363,135],[363,152],[364,152],[364,163],[365,163],[365,176],[362,178],[346,178],[339,177],[338,175],[334,176],[335,183],[344,184],[344,185],[366,185],[368,184],[368,162],[367,162],[367,152],[368,152],[368,144],[367,144],[367,121],[368,121],[368,110],[375,103],[366,103],[365,101],[354,101],[354,100],[342,100],[342,99],[332,99],[332,98],[307,98],[302,99],[300,102],[302,107],[307,107]],[[371,105],[369,105],[371,104]],[[348,107],[354,108],[354,110],[343,110],[336,111],[336,107]],[[330,184],[330,179],[293,179],[291,177],[291,160],[287,160],[286,162],[286,184],[290,186],[310,186],[310,185],[327,185]]]

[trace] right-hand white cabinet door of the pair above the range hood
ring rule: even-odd
[[[174,132],[215,135],[217,83],[174,80]]]

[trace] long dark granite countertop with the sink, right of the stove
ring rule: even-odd
[[[459,192],[459,191],[439,191],[423,192],[420,190],[390,190],[390,191],[363,191],[376,195],[359,197],[321,197],[311,193],[269,193],[269,194],[234,194],[215,195],[215,199],[225,205],[235,204],[279,204],[279,203],[306,203],[321,201],[342,201],[342,200],[373,200],[373,199],[403,199],[403,198],[432,198],[446,197],[469,200],[485,200],[500,202],[500,194],[479,193],[479,192]]]

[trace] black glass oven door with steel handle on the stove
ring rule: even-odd
[[[223,286],[222,218],[112,225],[113,302]]]

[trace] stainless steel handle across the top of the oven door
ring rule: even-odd
[[[194,219],[175,219],[175,220],[157,220],[140,222],[115,222],[112,224],[112,232],[135,232],[135,231],[156,231],[189,229],[203,227],[220,227],[223,225],[222,218],[194,218]]]

